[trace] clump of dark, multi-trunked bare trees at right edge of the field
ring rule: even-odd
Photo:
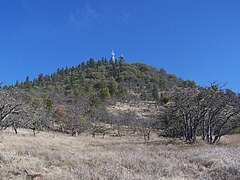
[[[177,89],[164,105],[165,135],[195,143],[198,136],[214,144],[240,125],[240,97],[214,84],[210,88]]]

